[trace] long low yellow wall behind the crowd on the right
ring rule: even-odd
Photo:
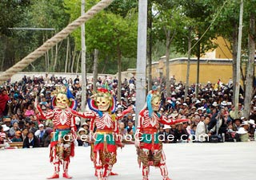
[[[187,57],[171,59],[170,76],[186,82]],[[152,77],[166,76],[166,57],[152,64]],[[194,84],[197,78],[197,58],[190,58],[190,84]],[[218,79],[227,83],[232,78],[232,60],[229,59],[200,59],[199,83],[206,84],[208,81],[216,83]]]

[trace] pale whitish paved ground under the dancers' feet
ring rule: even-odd
[[[165,144],[166,163],[173,180],[254,180],[256,178],[256,142]],[[76,147],[70,175],[77,180],[93,180],[90,147]],[[39,180],[52,174],[49,149],[0,151],[0,179]],[[134,146],[118,150],[110,180],[141,180]],[[62,178],[61,178],[62,179]],[[150,180],[161,180],[160,170],[150,168]]]

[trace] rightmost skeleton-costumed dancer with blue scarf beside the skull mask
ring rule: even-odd
[[[150,166],[159,167],[163,180],[170,180],[166,166],[166,156],[162,150],[162,142],[158,139],[158,124],[172,125],[186,122],[186,119],[174,121],[165,115],[160,115],[158,110],[161,104],[161,94],[151,91],[146,96],[146,107],[138,115],[138,127],[135,136],[135,146],[138,152],[139,165],[142,163],[143,180],[148,180]]]

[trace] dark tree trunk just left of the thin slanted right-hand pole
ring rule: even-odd
[[[235,84],[237,83],[237,58],[238,58],[238,25],[234,23],[233,28],[233,104],[234,104],[234,95],[235,95]]]

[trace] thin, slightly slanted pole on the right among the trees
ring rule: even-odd
[[[241,46],[242,46],[242,14],[243,14],[243,0],[240,3],[240,18],[239,18],[239,33],[238,33],[238,57],[237,57],[237,80],[235,84],[234,95],[234,118],[238,118],[238,103],[239,103],[239,89],[240,89],[240,62],[241,62]]]

